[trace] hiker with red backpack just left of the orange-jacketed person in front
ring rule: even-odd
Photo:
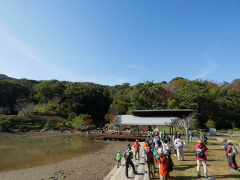
[[[148,146],[144,150],[144,154],[145,154],[145,162],[148,168],[148,177],[149,179],[154,178],[155,166],[154,166],[154,159],[153,159],[152,144],[150,143],[148,144]],[[152,177],[150,177],[150,174],[152,174]]]

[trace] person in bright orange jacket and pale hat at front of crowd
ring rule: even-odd
[[[159,163],[160,180],[168,180],[169,179],[169,172],[168,172],[169,160],[164,155],[164,151],[162,148],[159,148],[157,153],[159,155],[159,158],[154,159],[154,161]]]

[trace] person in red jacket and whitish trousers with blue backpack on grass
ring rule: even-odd
[[[204,142],[202,140],[198,140],[198,144],[196,144],[194,146],[194,148],[196,150],[198,177],[200,177],[200,166],[201,166],[201,162],[202,162],[203,168],[204,168],[204,175],[205,175],[205,178],[207,178],[208,177],[208,175],[207,175],[207,157],[206,157],[205,152],[208,150],[208,148],[204,145]]]

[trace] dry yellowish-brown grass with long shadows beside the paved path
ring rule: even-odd
[[[225,137],[224,137],[225,138]],[[240,140],[239,138],[229,138],[229,140]],[[174,156],[174,150],[172,149],[172,159],[174,163],[173,171],[170,173],[171,180],[194,180],[201,179],[205,180],[203,166],[201,165],[201,178],[197,177],[197,161],[195,155],[194,145],[197,144],[197,141],[193,143],[186,143],[186,147],[184,148],[184,161],[177,161],[177,156]],[[238,144],[238,143],[235,143]],[[239,172],[232,172],[227,168],[228,163],[225,155],[225,151],[222,150],[222,146],[224,143],[222,142],[208,142],[207,147],[208,151],[207,155],[207,168],[208,168],[208,176],[213,177],[215,179],[223,179],[223,180],[240,180]],[[238,150],[240,150],[240,146],[235,146]],[[236,156],[236,162],[240,165],[240,156]],[[159,179],[158,173],[158,164],[155,163],[156,172],[155,178]]]

